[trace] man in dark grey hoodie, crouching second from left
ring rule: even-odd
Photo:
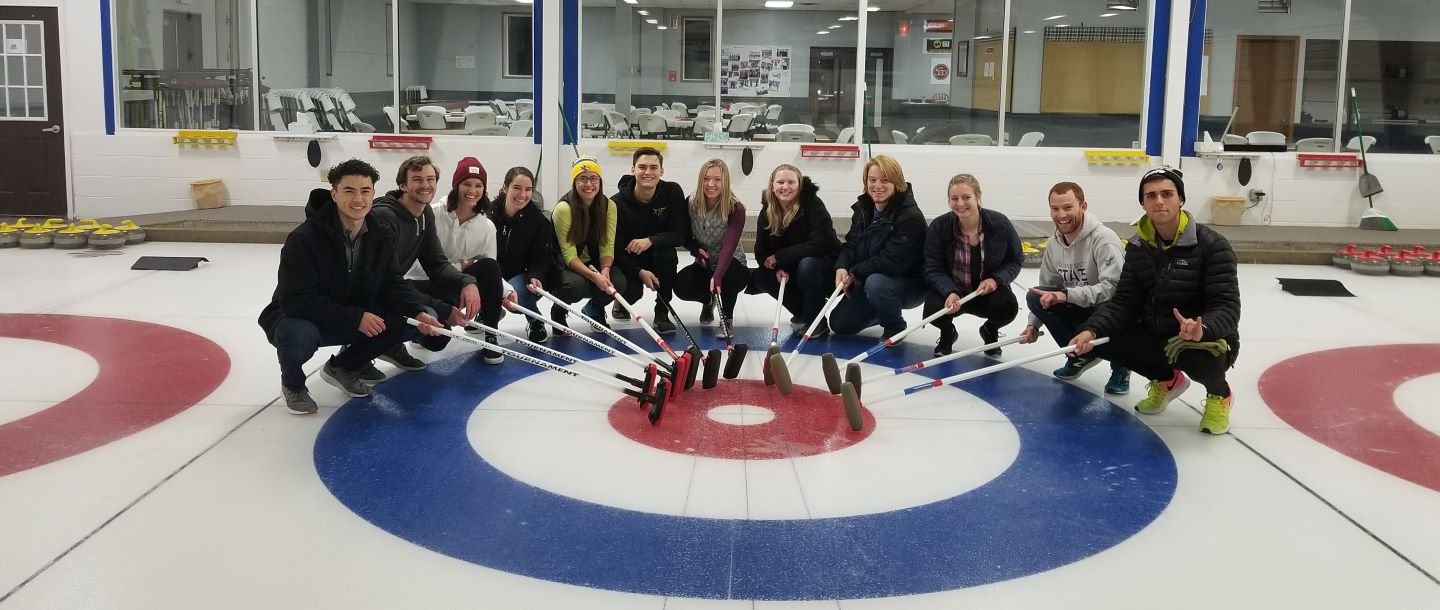
[[[435,232],[435,209],[431,207],[431,200],[435,199],[439,176],[439,168],[429,157],[410,157],[402,161],[395,177],[399,188],[374,200],[374,217],[395,233],[395,266],[400,275],[419,260],[435,292],[459,293],[458,304],[448,304],[420,292],[420,302],[452,327],[461,327],[480,312],[480,289],[475,286],[475,278],[461,273],[449,263]],[[495,282],[498,281],[495,278]],[[445,350],[448,344],[449,337],[444,335],[420,340],[420,345],[429,351]],[[408,371],[425,368],[425,361],[410,355],[403,342],[380,354],[380,360]]]

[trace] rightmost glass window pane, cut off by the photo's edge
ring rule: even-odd
[[[1299,10],[1299,7],[1296,7]],[[1346,85],[1355,89],[1355,117],[1345,112],[1341,145],[1367,152],[1440,151],[1440,6],[1400,0],[1354,3]],[[1346,89],[1346,94],[1349,91]],[[1333,99],[1333,88],[1331,99]],[[1348,99],[1341,104],[1349,106]],[[1374,138],[1374,140],[1371,140]]]

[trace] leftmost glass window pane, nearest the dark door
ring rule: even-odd
[[[251,3],[115,0],[121,127],[252,129]]]

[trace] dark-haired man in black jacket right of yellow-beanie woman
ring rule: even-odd
[[[641,148],[631,157],[631,176],[621,178],[615,193],[615,268],[625,273],[625,301],[635,304],[644,292],[655,291],[654,327],[658,332],[674,332],[675,324],[665,315],[675,286],[680,258],[675,247],[690,237],[690,211],[685,191],[680,184],[660,180],[665,176],[665,158],[654,148]],[[665,305],[661,305],[661,302]],[[619,304],[612,311],[624,319]]]

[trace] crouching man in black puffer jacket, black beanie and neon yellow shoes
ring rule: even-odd
[[[1115,296],[1100,305],[1070,341],[1076,355],[1096,337],[1110,342],[1096,352],[1151,380],[1136,411],[1156,414],[1189,387],[1205,386],[1200,430],[1230,430],[1225,371],[1240,350],[1240,283],[1230,242],[1197,223],[1181,207],[1179,171],[1152,170],[1140,178],[1145,217],[1125,247]]]

